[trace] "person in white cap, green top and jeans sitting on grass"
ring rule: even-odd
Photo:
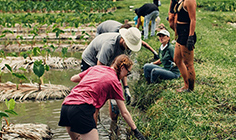
[[[144,65],[144,77],[148,83],[158,83],[160,80],[171,80],[180,77],[178,67],[174,63],[174,46],[170,43],[170,33],[161,30],[157,33],[161,46],[159,48],[159,59],[153,63]],[[160,65],[163,65],[160,66]]]

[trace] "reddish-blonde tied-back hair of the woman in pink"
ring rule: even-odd
[[[117,75],[120,74],[120,70],[121,70],[122,66],[124,66],[125,68],[128,69],[132,65],[133,65],[132,60],[125,54],[121,54],[121,55],[117,56],[111,64],[111,66],[114,67]]]

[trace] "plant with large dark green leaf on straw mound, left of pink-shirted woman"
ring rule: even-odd
[[[34,71],[34,74],[38,76],[39,78],[39,91],[41,91],[41,85],[43,84],[43,74],[44,72],[46,71],[49,71],[49,66],[47,64],[43,64],[43,61],[42,60],[36,60],[34,62],[34,66],[33,66],[33,71]]]

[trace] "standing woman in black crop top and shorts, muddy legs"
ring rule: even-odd
[[[196,43],[196,0],[180,0],[175,6],[178,14],[174,61],[184,79],[184,86],[177,92],[193,91],[195,82],[194,44]]]

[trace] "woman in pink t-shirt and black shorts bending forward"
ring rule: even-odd
[[[120,79],[127,76],[133,62],[126,55],[115,58],[112,65],[94,66],[71,77],[78,82],[62,103],[59,126],[65,126],[72,140],[98,140],[98,131],[94,120],[95,110],[99,110],[108,99],[115,99],[122,117],[131,127],[135,136],[145,140],[138,131],[132,116],[127,110]]]

